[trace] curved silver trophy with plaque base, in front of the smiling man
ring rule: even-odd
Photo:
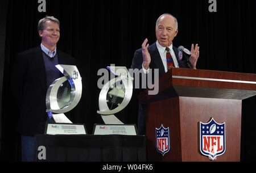
[[[46,95],[46,112],[55,123],[47,123],[45,134],[86,134],[84,124],[73,124],[65,112],[79,103],[82,95],[82,79],[74,65],[56,65],[64,77],[49,86]]]

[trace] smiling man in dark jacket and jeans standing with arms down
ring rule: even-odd
[[[56,49],[60,38],[59,20],[46,16],[39,20],[39,47],[21,52],[13,66],[12,89],[19,106],[18,132],[22,141],[22,161],[33,161],[35,135],[40,123],[49,121],[46,93],[49,85],[61,77],[57,64],[75,65],[75,59]]]

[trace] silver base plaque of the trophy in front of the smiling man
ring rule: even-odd
[[[87,134],[84,124],[46,123],[45,134]]]

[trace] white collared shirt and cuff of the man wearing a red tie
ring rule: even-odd
[[[158,48],[158,52],[160,54],[160,57],[162,59],[163,65],[164,65],[164,70],[167,72],[167,61],[166,61],[166,53],[167,53],[167,51],[166,51],[166,47],[162,47],[162,45],[160,45],[158,43],[158,41],[156,41],[156,48]],[[168,48],[170,49],[170,54],[172,56],[172,59],[174,60],[175,67],[179,67],[179,64],[177,62],[177,58],[176,58],[175,53],[174,53],[174,49],[172,49],[172,44]],[[144,71],[144,73],[147,74],[149,72],[149,69],[150,69],[149,67],[148,67],[147,70],[144,69],[143,64],[142,64],[142,70]]]

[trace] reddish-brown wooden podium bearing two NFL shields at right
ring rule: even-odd
[[[256,74],[172,68],[157,95],[139,96],[146,118],[148,161],[210,161],[200,152],[199,123],[225,122],[225,153],[214,161],[240,161],[242,100],[256,95]],[[156,150],[156,128],[169,128],[170,150]]]

